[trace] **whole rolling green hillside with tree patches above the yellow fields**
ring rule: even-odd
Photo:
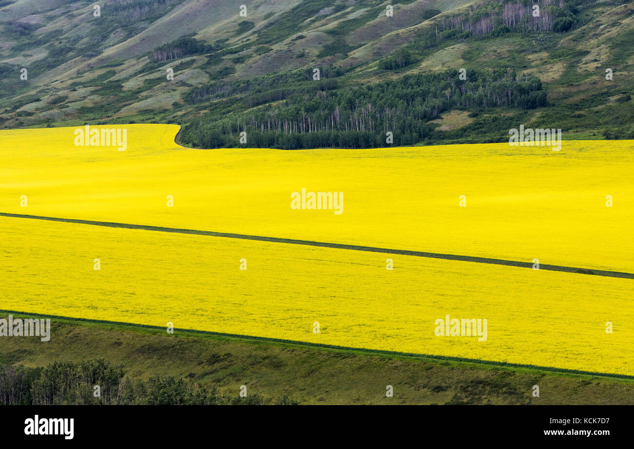
[[[1,126],[171,122],[200,148],[634,138],[632,2],[94,4],[0,1]]]

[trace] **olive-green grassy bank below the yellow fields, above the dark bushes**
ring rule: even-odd
[[[229,393],[247,385],[302,404],[634,404],[625,379],[321,349],[216,335],[53,319],[49,342],[0,339],[0,363],[105,358],[131,377],[190,377]],[[385,386],[394,398],[384,398]],[[532,396],[533,385],[540,397]]]

